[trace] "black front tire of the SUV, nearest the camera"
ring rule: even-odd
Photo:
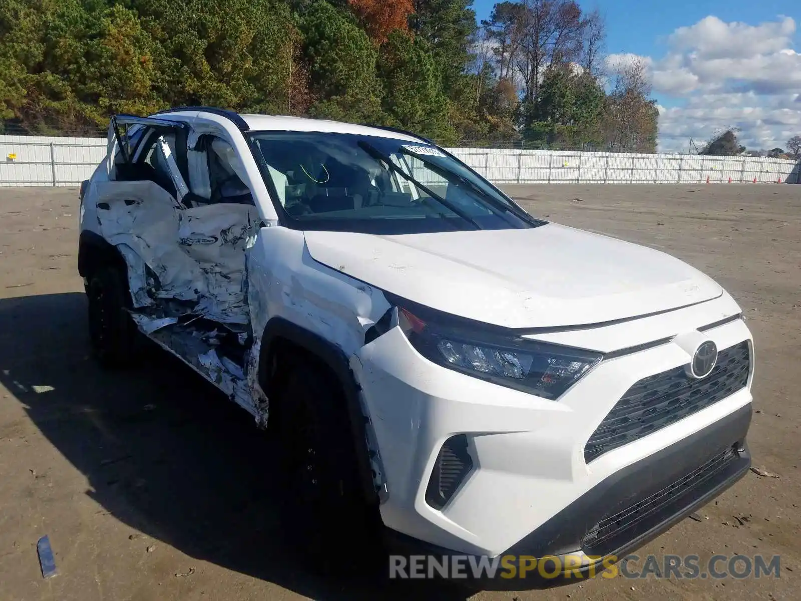
[[[375,575],[385,565],[380,515],[360,486],[340,386],[315,361],[301,358],[292,362],[278,405],[285,498],[298,550],[327,577]]]

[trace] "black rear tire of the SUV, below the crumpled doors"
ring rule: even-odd
[[[101,267],[87,286],[89,339],[100,365],[127,367],[139,350],[139,330],[126,309],[131,307],[127,280],[118,268]]]

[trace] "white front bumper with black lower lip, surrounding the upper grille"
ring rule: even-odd
[[[596,329],[588,336],[598,345],[584,346],[601,349],[604,337],[610,341],[628,337],[635,342],[641,333],[657,340],[662,337],[660,328],[674,334],[690,331],[738,310],[727,299],[715,302],[642,320],[636,326],[634,322],[615,326],[617,331]],[[743,321],[705,334],[718,349],[742,341],[751,345]],[[582,346],[577,343],[578,334],[568,335],[574,339],[572,345]],[[518,551],[563,555],[584,547],[594,555],[610,555],[642,543],[670,526],[687,507],[714,496],[747,470],[748,420],[735,420],[739,429],[721,425],[733,416],[750,416],[751,375],[747,387],[586,461],[586,443],[626,390],[642,378],[689,361],[686,351],[672,342],[614,357],[602,361],[558,401],[548,401],[434,365],[409,345],[399,329],[391,329],[352,360],[387,489],[380,506],[384,524],[399,533],[397,538],[417,539],[449,553],[490,558]],[[704,443],[692,446],[691,453],[681,450],[702,432],[706,434],[701,438],[710,440],[710,433],[719,432],[714,448]],[[426,501],[426,488],[437,454],[457,434],[468,440],[473,469],[453,498],[437,510]],[[643,501],[732,446],[743,451],[731,458],[725,470],[704,481],[711,486],[710,482],[720,480],[711,492],[693,487],[693,494],[682,496],[681,506],[654,514],[662,516],[658,523],[648,520],[642,522],[648,527],[638,526],[611,538],[605,535],[602,545],[596,541],[597,548],[586,543],[586,535],[604,516]],[[663,454],[672,459],[662,463]],[[661,471],[649,462],[659,462]]]

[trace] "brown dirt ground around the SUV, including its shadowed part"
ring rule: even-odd
[[[780,579],[595,579],[474,599],[801,599],[801,186],[523,186],[534,215],[650,245],[720,281],[756,345],[755,466],[639,555],[781,555]],[[0,190],[0,599],[445,599],[450,587],[317,579],[288,552],[252,419],[155,353],[89,357],[77,190]],[[50,535],[59,575],[44,580]],[[332,549],[336,553],[336,549]],[[702,563],[703,565],[703,563]]]

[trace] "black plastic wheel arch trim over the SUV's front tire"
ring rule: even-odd
[[[370,451],[365,429],[366,417],[359,399],[360,385],[354,377],[344,351],[319,334],[313,333],[283,317],[273,317],[264,327],[259,356],[259,382],[268,397],[280,387],[281,353],[289,349],[300,351],[319,361],[331,372],[340,385],[350,424],[352,442],[356,448],[356,460],[361,487],[368,504],[378,504],[378,494],[373,484]],[[272,402],[272,401],[271,401]],[[280,405],[278,406],[280,411]]]

